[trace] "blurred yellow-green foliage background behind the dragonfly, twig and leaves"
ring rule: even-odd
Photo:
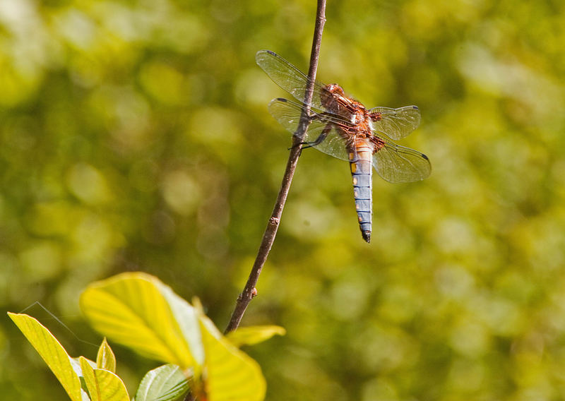
[[[328,3],[319,78],[417,104],[432,176],[375,176],[365,244],[347,163],[303,152],[243,322],[288,331],[246,349],[267,400],[565,400],[565,4]],[[94,358],[78,294],[143,270],[225,328],[290,145],[254,54],[306,71],[315,6],[1,0],[1,309]],[[157,364],[114,350],[133,395]],[[66,399],[7,316],[0,394]]]

